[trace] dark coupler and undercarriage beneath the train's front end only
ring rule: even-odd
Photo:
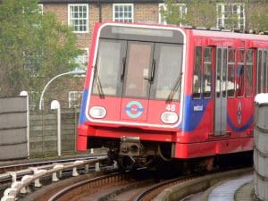
[[[172,160],[172,143],[140,141],[138,137],[89,138],[90,147],[108,148],[108,158],[121,168],[148,167],[157,161]]]

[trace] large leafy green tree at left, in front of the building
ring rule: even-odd
[[[43,14],[38,0],[3,0],[0,13],[0,96],[40,91],[74,68],[76,36],[53,13]]]

